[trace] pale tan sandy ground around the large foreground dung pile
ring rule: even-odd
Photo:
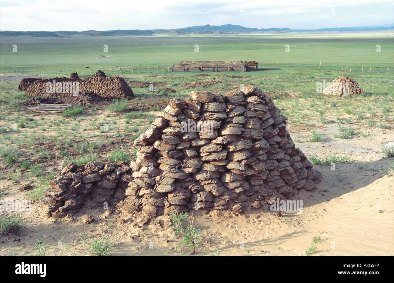
[[[319,130],[325,136],[336,128],[327,124]],[[293,197],[303,201],[302,214],[286,212],[277,218],[269,205],[242,216],[195,211],[203,228],[203,241],[195,255],[213,255],[215,248],[221,255],[304,255],[312,246],[317,248],[314,255],[394,255],[394,176],[381,173],[394,158],[381,159],[379,152],[393,140],[392,130],[375,129],[368,138],[325,137],[323,142],[297,143],[308,157],[346,155],[357,161],[336,164],[335,170],[314,166],[323,175],[317,190],[300,191]],[[3,200],[27,200],[28,192],[17,188],[6,181]],[[91,255],[89,244],[99,236],[119,243],[112,255],[166,255],[173,254],[179,240],[165,216],[157,223],[140,225],[129,214],[82,209],[72,217],[54,220],[46,217],[41,204],[33,204],[30,214],[19,215],[26,226],[21,235],[0,236],[1,255],[35,254],[32,247],[37,234],[45,236],[48,255]],[[87,216],[95,222],[84,223]],[[316,244],[314,236],[320,237]]]

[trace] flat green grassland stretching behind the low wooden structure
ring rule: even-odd
[[[17,52],[12,52],[14,44]],[[108,45],[108,52],[103,51],[103,45]],[[195,45],[199,45],[199,52],[195,52]],[[285,51],[286,45],[290,46],[290,52]],[[381,52],[376,52],[376,45],[381,46]],[[352,67],[355,73],[361,73],[363,66],[364,72],[372,67],[374,72],[385,73],[387,67],[393,66],[394,58],[393,34],[390,32],[70,38],[11,36],[2,37],[0,47],[1,73],[56,75],[68,75],[73,71],[87,75],[93,70],[126,64],[172,65],[180,60],[255,60],[269,76],[292,74],[292,68],[316,71],[320,60],[320,72],[337,72],[344,64],[348,70]],[[110,58],[94,58],[97,55]],[[279,69],[276,69],[277,60]],[[85,69],[87,66],[90,70]],[[275,70],[270,70],[272,66]]]

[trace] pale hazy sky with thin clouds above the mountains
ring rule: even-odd
[[[239,24],[316,29],[393,24],[393,0],[0,0],[0,30],[133,30]]]

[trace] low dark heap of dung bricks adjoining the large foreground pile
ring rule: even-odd
[[[46,204],[53,218],[80,209],[88,194],[94,205],[104,208],[114,199],[118,202],[124,199],[125,188],[132,179],[129,162],[89,162],[82,166],[70,163],[61,170],[61,175],[48,182],[50,188],[44,190],[39,200]]]

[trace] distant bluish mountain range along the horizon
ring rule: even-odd
[[[171,30],[86,30],[84,32],[17,32],[11,30],[0,31],[0,36],[31,35],[36,37],[70,37],[73,35],[115,36],[115,35],[190,35],[190,34],[265,34],[289,32],[365,32],[374,30],[394,30],[394,26],[357,26],[348,28],[320,28],[317,30],[292,30],[290,28],[245,28],[244,26],[223,24],[221,26],[189,26]]]

